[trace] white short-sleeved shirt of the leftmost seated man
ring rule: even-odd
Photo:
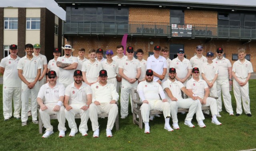
[[[59,97],[64,95],[65,86],[57,82],[54,88],[50,88],[49,83],[42,85],[37,97],[44,98],[44,104],[55,105],[59,101]]]

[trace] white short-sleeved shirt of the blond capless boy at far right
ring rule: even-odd
[[[252,63],[245,59],[244,63],[240,60],[234,62],[232,71],[236,74],[238,78],[247,78],[248,73],[253,73]]]

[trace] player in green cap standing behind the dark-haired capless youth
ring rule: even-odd
[[[32,54],[41,62],[41,65],[42,65],[41,75],[38,79],[39,88],[41,88],[41,86],[46,82],[45,74],[47,72],[47,59],[45,55],[40,54],[40,51],[41,51],[40,44],[34,44],[33,47],[34,47],[33,49],[34,53]]]

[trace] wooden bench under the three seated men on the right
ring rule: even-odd
[[[142,117],[141,117],[141,113],[140,113],[140,106],[142,105],[142,102],[140,102],[140,97],[139,94],[137,93],[137,89],[136,88],[132,88],[132,122],[133,124],[137,124],[140,129],[142,129]],[[212,98],[217,98],[217,97],[213,97],[213,96],[209,96]],[[137,104],[137,105],[136,105]],[[188,108],[178,108],[178,112],[188,112]],[[210,110],[210,106],[202,106],[202,110]],[[156,114],[163,114],[163,112],[158,111],[158,110],[151,110],[150,111],[150,116],[152,115],[156,115]],[[137,115],[138,115],[138,120],[137,120]]]

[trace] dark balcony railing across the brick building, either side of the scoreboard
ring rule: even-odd
[[[256,39],[256,27],[192,25],[191,38]],[[66,21],[64,35],[129,35],[172,37],[168,23]]]

